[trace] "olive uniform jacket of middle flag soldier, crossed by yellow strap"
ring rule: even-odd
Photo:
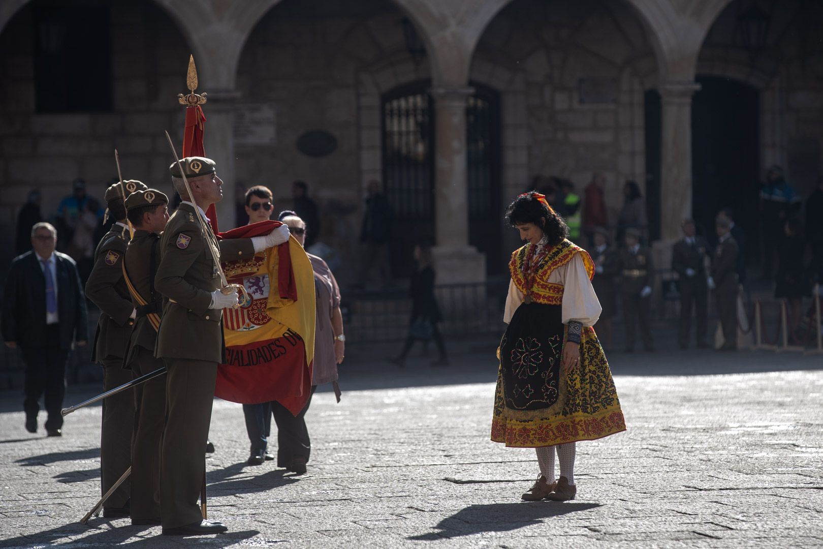
[[[126,272],[128,280],[156,314],[162,314],[162,299],[154,287],[157,267],[160,264],[160,235],[150,233],[147,230],[135,230],[134,238],[128,243],[126,249]],[[137,309],[137,319],[135,319],[132,335],[128,341],[128,351],[124,364],[128,366],[131,355],[137,347],[154,352],[157,342],[157,332],[144,314],[146,311],[132,298],[132,305]],[[153,307],[152,307],[153,305]]]

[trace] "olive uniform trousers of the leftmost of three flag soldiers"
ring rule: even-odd
[[[119,358],[103,361],[103,390],[109,391],[132,380],[131,370],[123,368]],[[103,400],[103,426],[100,430],[100,489],[105,494],[132,465],[132,430],[134,393],[121,391]],[[123,482],[109,499],[105,509],[128,506],[129,481]]]

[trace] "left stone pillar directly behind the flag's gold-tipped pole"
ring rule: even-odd
[[[237,226],[235,216],[235,112],[239,91],[208,91],[203,106],[206,131],[203,146],[206,156],[217,164],[217,175],[223,180],[223,199],[217,203],[217,225],[221,231]]]

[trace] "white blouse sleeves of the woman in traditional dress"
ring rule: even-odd
[[[602,307],[594,293],[592,282],[588,279],[586,266],[580,254],[574,254],[569,263],[556,268],[549,275],[551,284],[563,285],[563,304],[561,305],[561,322],[568,324],[577,320],[584,326],[593,326],[600,318]],[[514,281],[509,281],[509,295],[506,296],[506,308],[503,322],[511,322],[514,311],[523,303],[523,292],[519,291]]]

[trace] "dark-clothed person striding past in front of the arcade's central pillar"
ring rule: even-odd
[[[392,362],[402,368],[406,365],[406,356],[412,349],[415,340],[425,342],[434,339],[440,357],[432,365],[449,365],[443,336],[437,328],[437,323],[443,320],[443,314],[440,313],[435,298],[435,269],[432,267],[431,248],[427,245],[417,245],[414,249],[414,258],[417,261],[417,269],[412,275],[412,286],[409,289],[409,295],[412,297],[412,318],[409,320],[409,334],[400,355],[392,359]]]

